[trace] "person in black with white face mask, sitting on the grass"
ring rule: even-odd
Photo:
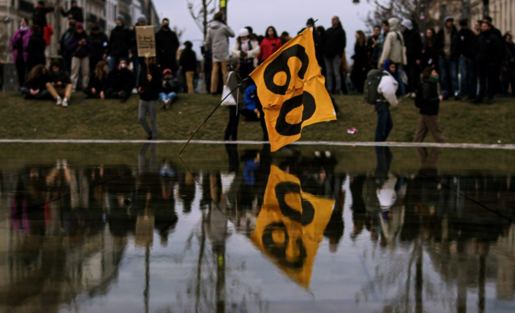
[[[130,97],[132,88],[134,88],[134,80],[132,72],[127,67],[127,59],[121,59],[118,66],[109,72],[109,88],[105,92],[106,97],[120,99],[122,103],[125,103]]]

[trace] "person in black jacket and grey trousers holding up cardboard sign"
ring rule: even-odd
[[[139,120],[148,135],[148,140],[158,138],[157,100],[162,89],[161,82],[161,69],[156,64],[156,59],[147,59],[147,64],[143,65],[141,69],[138,93],[140,94]],[[152,129],[148,126],[147,114],[150,115]]]

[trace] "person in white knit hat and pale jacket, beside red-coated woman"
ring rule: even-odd
[[[258,65],[258,55],[260,53],[259,42],[251,40],[247,28],[239,30],[239,36],[232,46],[232,56],[239,58],[239,74],[246,78]]]

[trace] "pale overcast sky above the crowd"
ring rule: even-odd
[[[193,0],[196,5],[201,0]],[[171,26],[184,29],[181,42],[190,40],[198,51],[202,32],[197,28],[188,12],[186,0],[154,0],[160,18],[170,19]],[[217,1],[218,3],[218,1]],[[287,31],[291,37],[305,27],[308,18],[318,19],[317,26],[331,26],[331,18],[337,15],[347,32],[347,56],[352,56],[356,30],[366,29],[364,20],[372,6],[362,0],[355,5],[352,0],[230,0],[227,5],[228,25],[237,33],[245,26],[251,26],[257,34],[264,34],[269,25],[278,33]],[[232,44],[232,42],[231,42]]]

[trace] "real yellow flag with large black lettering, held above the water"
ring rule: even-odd
[[[311,29],[288,41],[250,76],[258,87],[272,151],[299,140],[304,126],[336,119]]]

